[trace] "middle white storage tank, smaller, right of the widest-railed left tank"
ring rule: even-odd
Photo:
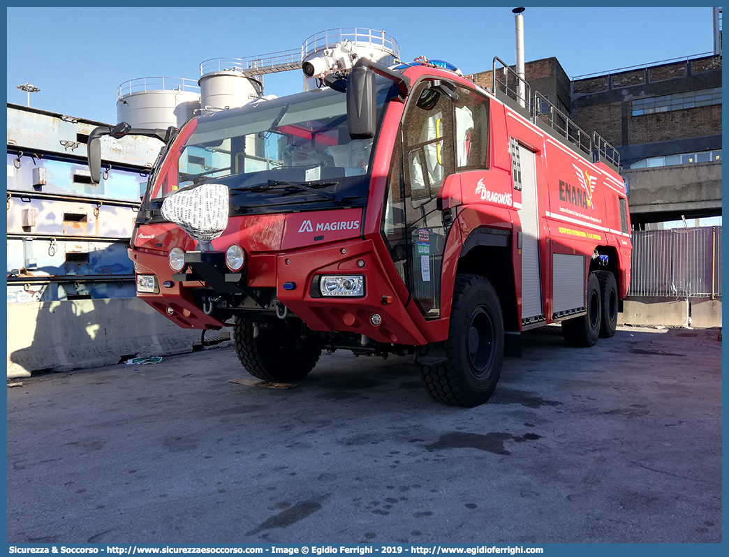
[[[263,85],[244,75],[241,59],[213,58],[200,64],[200,108],[215,112],[249,104],[263,96]]]

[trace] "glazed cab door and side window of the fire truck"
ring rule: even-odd
[[[426,319],[440,317],[443,251],[451,224],[437,209],[438,191],[456,170],[482,163],[481,144],[486,152],[486,141],[474,133],[481,127],[474,123],[478,105],[486,114],[486,98],[450,84],[444,90],[439,83],[425,80],[410,94],[394,147],[382,224],[408,288],[408,303],[415,303]],[[485,116],[478,120],[488,129]]]

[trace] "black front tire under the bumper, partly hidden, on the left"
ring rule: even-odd
[[[276,327],[260,327],[253,338],[253,323],[235,318],[235,354],[246,371],[263,381],[298,381],[313,370],[321,348],[301,340],[284,322]]]

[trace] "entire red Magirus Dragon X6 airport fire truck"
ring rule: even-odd
[[[523,331],[614,335],[631,257],[615,149],[498,58],[490,89],[424,59],[351,66],[179,130],[91,134],[95,182],[102,136],[165,143],[130,240],[141,300],[203,335],[233,326],[264,381],[322,351],[411,354],[434,400],[467,407]]]

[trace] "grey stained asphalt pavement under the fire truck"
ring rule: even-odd
[[[720,542],[717,329],[523,335],[491,400],[412,359],[321,356],[291,389],[230,342],[7,390],[8,542]]]

